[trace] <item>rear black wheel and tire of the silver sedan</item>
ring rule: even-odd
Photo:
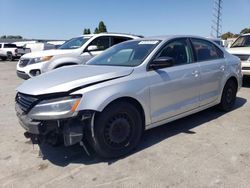
[[[237,84],[233,80],[228,80],[224,86],[219,109],[225,112],[230,111],[235,104]]]

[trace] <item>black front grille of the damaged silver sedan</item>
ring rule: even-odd
[[[16,103],[25,113],[27,113],[37,101],[37,98],[25,94],[17,93],[16,95]]]

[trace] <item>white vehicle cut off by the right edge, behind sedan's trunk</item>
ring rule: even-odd
[[[241,60],[244,76],[250,76],[250,33],[239,36],[227,51]]]

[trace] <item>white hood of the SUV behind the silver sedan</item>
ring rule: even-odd
[[[38,52],[31,52],[24,54],[22,58],[37,58],[43,56],[54,56],[54,55],[63,55],[63,54],[70,54],[72,50],[60,50],[60,49],[52,49],[52,50],[44,50]]]

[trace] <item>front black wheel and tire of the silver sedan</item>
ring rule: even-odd
[[[128,154],[140,141],[143,125],[136,107],[116,102],[96,114],[94,127],[88,135],[90,146],[103,158],[117,158]]]

